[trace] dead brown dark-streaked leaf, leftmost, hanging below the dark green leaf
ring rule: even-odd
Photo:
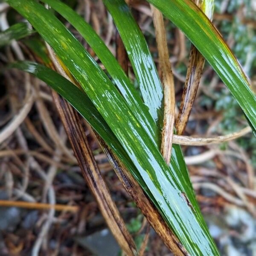
[[[49,50],[49,47],[48,47]],[[49,51],[51,58],[55,64],[58,63],[57,58],[54,58],[52,50]],[[67,76],[63,72],[61,75]],[[69,79],[70,80],[70,79]],[[81,172],[90,191],[96,198],[99,209],[108,224],[109,229],[113,233],[119,246],[128,256],[137,255],[137,249],[131,234],[128,232],[125,223],[119,214],[119,211],[114,204],[105,181],[99,172],[93,152],[85,136],[84,128],[81,125],[78,113],[73,107],[55,91],[52,90],[52,96],[61,121],[67,132],[70,144],[75,153],[76,159],[81,168]]]

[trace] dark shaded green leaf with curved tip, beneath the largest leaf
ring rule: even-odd
[[[73,105],[74,108],[76,108],[76,110],[90,123],[90,125],[92,125],[97,133],[99,133],[99,135],[105,140],[105,142],[113,149],[117,156],[122,159],[128,169],[134,175],[136,180],[139,181],[140,185],[145,186],[141,178],[139,176],[136,176],[136,167],[133,165],[133,163],[131,163],[128,155],[123,150],[122,145],[116,139],[115,135],[108,127],[105,120],[102,118],[100,113],[97,111],[97,109],[94,107],[94,105],[85,93],[83,93],[81,90],[79,90],[78,87],[76,87],[64,77],[60,76],[55,71],[40,64],[36,64],[30,61],[22,61],[9,64],[9,68],[17,68],[33,74],[34,76],[49,84],[61,96],[67,99],[67,101],[69,101],[70,104]],[[65,88],[65,90],[63,88]],[[151,198],[150,191],[146,191],[146,193]]]

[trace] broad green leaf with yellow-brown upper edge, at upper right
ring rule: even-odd
[[[233,94],[256,129],[256,95],[215,26],[191,0],[147,0],[179,27]]]

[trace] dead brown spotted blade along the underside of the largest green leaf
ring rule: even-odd
[[[131,173],[126,169],[126,167],[119,161],[112,150],[105,144],[101,137],[96,134],[103,151],[111,162],[116,175],[122,181],[127,192],[131,195],[131,198],[140,208],[143,215],[147,218],[148,222],[166,244],[166,246],[174,253],[175,256],[188,256],[189,253],[186,251],[185,247],[180,243],[175,234],[167,226],[166,222],[163,220],[162,216],[145,194],[143,189],[131,175]]]

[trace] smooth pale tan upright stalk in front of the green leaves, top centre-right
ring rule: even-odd
[[[160,69],[163,75],[164,115],[161,154],[169,165],[172,154],[172,135],[175,120],[175,90],[172,67],[166,41],[166,31],[162,13],[151,5],[157,40]]]

